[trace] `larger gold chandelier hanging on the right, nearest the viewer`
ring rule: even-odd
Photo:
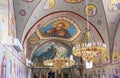
[[[82,39],[75,42],[72,48],[74,56],[82,57],[84,61],[90,62],[93,61],[96,56],[102,55],[106,51],[106,45],[95,41],[90,30],[82,35]]]

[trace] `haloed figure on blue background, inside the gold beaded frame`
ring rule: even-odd
[[[70,38],[76,33],[75,27],[65,20],[53,21],[47,26],[42,27],[40,31],[43,36],[62,38]]]

